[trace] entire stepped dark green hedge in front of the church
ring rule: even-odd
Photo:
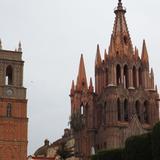
[[[160,122],[152,133],[132,136],[126,140],[125,149],[99,151],[92,160],[160,160]]]

